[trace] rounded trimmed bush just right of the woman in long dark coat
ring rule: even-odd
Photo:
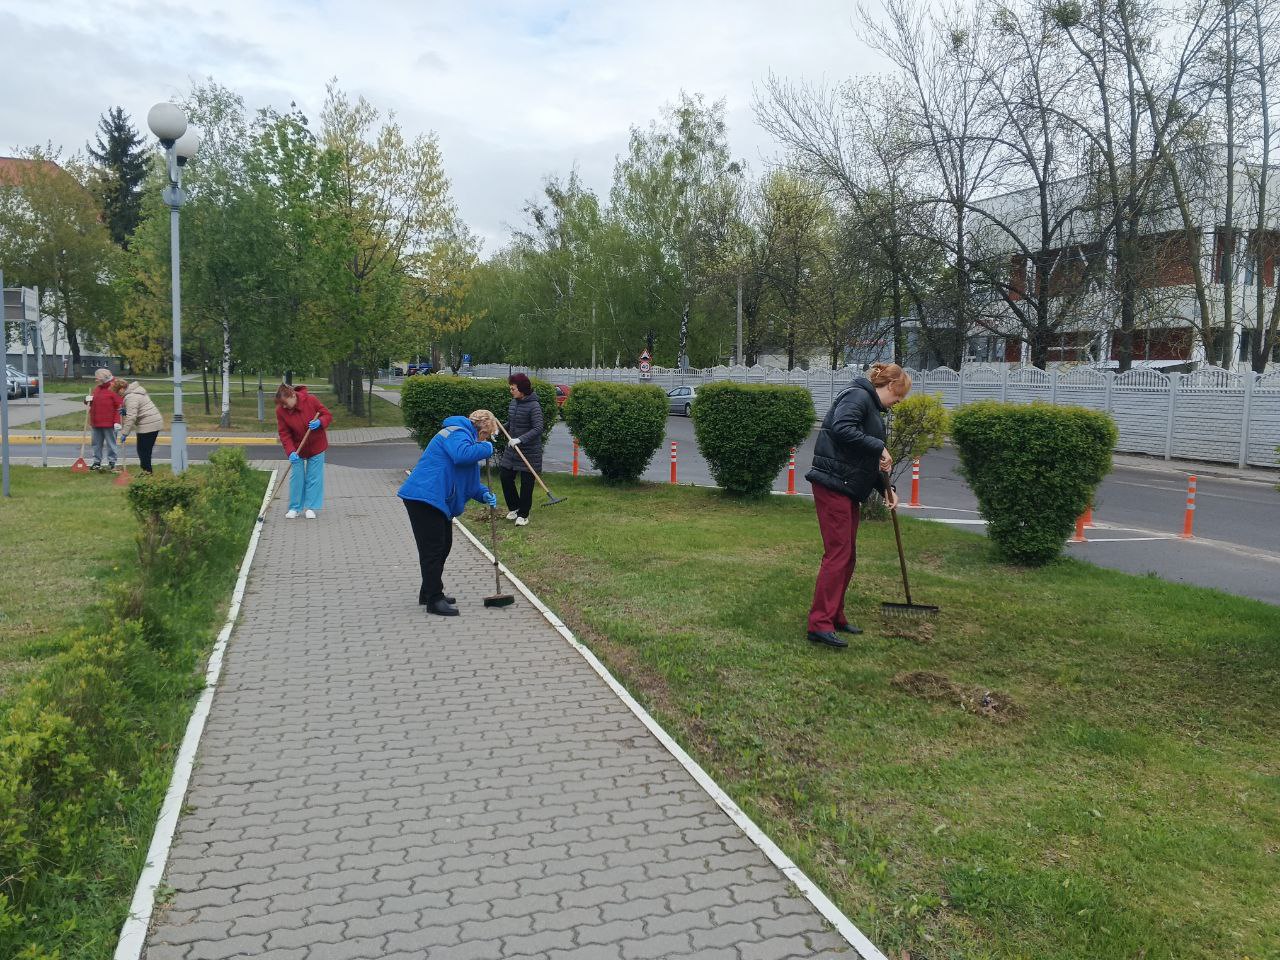
[[[605,480],[635,483],[667,433],[667,394],[657,387],[580,383],[564,421]]]

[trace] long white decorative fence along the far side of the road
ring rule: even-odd
[[[502,376],[506,365],[475,367],[476,376]],[[635,367],[549,367],[530,371],[544,380],[575,384],[582,380],[650,383],[654,387],[696,387],[716,380],[737,383],[792,384],[813,394],[822,417],[832,398],[861,370],[804,371],[773,367],[718,366],[709,370],[664,370],[655,367],[649,380],[640,380]],[[1101,410],[1120,429],[1116,447],[1123,453],[1149,453],[1169,460],[1183,457],[1238,466],[1275,467],[1280,445],[1280,371],[1235,374],[1206,367],[1193,374],[1166,375],[1156,370],[1114,371],[1075,367],[1044,371],[1036,367],[966,365],[959,372],[947,367],[913,370],[913,392],[937,394],[947,408],[979,399],[1010,403],[1075,404]]]

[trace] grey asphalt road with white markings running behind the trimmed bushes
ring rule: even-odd
[[[705,461],[698,453],[692,422],[685,417],[667,421],[667,439],[645,471],[645,479],[669,480],[671,440],[678,452],[680,483],[713,483]],[[813,457],[814,435],[796,452],[796,490],[809,490],[804,474]],[[219,447],[225,447],[220,444]],[[215,445],[191,445],[189,456],[201,461],[219,449]],[[243,448],[250,460],[280,462],[274,445]],[[168,448],[156,447],[156,458],[168,457]],[[38,448],[15,445],[15,458],[32,462]],[[51,462],[65,465],[78,454],[76,445],[51,445]],[[419,456],[413,444],[371,443],[330,447],[332,463],[366,468],[412,466]],[[38,462],[38,461],[37,461]],[[572,463],[572,439],[558,424],[548,443],[548,472],[568,472]],[[593,474],[585,454],[580,470]],[[1280,493],[1274,488],[1275,474],[1258,471],[1258,480],[1239,480],[1199,474],[1196,536],[1179,538],[1187,497],[1190,465],[1133,463],[1116,466],[1098,489],[1094,509],[1096,527],[1087,531],[1088,543],[1070,544],[1070,556],[1103,567],[1132,573],[1155,573],[1175,582],[1212,586],[1242,596],[1253,596],[1280,605]],[[978,504],[956,470],[951,449],[936,451],[922,461],[923,509],[904,511],[909,516],[937,520],[974,532],[983,531]],[[783,492],[787,475],[783,468],[774,489]],[[556,484],[552,484],[556,489]],[[899,480],[904,502],[910,490],[910,475]],[[536,503],[536,502],[535,502]]]

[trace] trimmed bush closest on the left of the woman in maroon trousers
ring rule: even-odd
[[[716,483],[745,497],[769,492],[814,421],[813,397],[804,387],[727,381],[699,387],[690,413]]]

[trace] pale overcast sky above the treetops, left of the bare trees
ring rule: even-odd
[[[759,169],[772,69],[836,81],[883,69],[854,0],[0,0],[0,150],[84,148],[99,115],[146,111],[212,77],[315,119],[325,81],[435,131],[462,216],[492,252],[548,174],[607,192],[632,125],[681,90],[724,97]],[[150,134],[148,134],[150,136]]]

